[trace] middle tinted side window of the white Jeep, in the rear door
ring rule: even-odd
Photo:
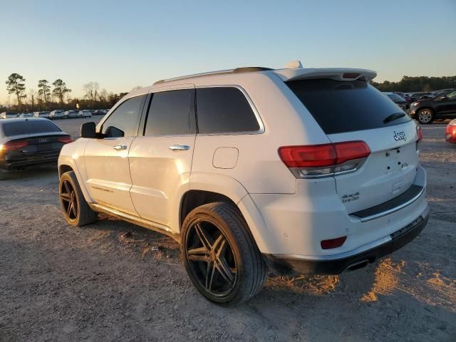
[[[145,135],[190,133],[190,90],[172,90],[152,95]]]

